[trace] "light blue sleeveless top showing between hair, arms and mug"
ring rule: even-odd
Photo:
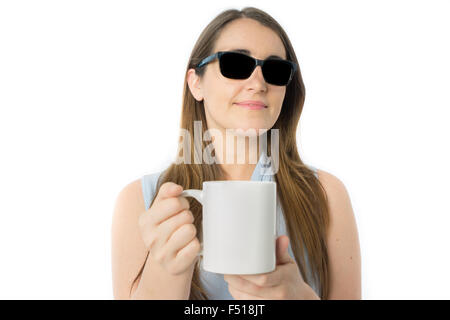
[[[317,169],[313,166],[308,166],[311,170],[314,171],[316,177],[318,177]],[[145,201],[145,209],[149,209],[150,203],[153,200],[153,197],[156,194],[156,186],[158,182],[158,178],[163,171],[159,171],[153,174],[147,174],[142,176],[142,192],[144,195]],[[252,181],[274,181],[273,174],[271,174],[271,166],[270,166],[270,158],[265,156],[264,152],[262,153],[259,161],[253,171],[252,177],[250,180]],[[282,213],[281,205],[279,199],[277,197],[277,237],[280,235],[287,234],[286,232],[286,224],[284,220],[284,216]],[[289,255],[294,259],[294,254],[292,253],[291,244],[289,242],[288,248]],[[305,281],[311,286],[311,288],[319,295],[319,286],[315,283],[311,269],[308,261],[308,253],[305,252],[305,261],[306,261],[306,274],[307,279]],[[295,259],[294,259],[295,260]],[[203,287],[208,292],[208,297],[211,300],[234,300],[233,296],[228,291],[228,283],[224,280],[223,274],[213,273],[209,271],[203,270],[200,268],[200,281],[203,284]]]

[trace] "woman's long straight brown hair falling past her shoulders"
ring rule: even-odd
[[[196,69],[196,65],[205,57],[212,54],[212,50],[219,37],[222,28],[229,22],[239,18],[250,18],[276,32],[284,44],[286,58],[298,64],[297,57],[290,40],[282,27],[266,12],[246,7],[242,10],[230,9],[220,13],[212,20],[197,40],[186,69]],[[203,76],[205,68],[196,69],[196,74]],[[306,249],[309,265],[312,271],[312,279],[321,299],[327,299],[329,292],[328,252],[326,247],[326,233],[329,223],[329,208],[325,190],[319,180],[300,159],[296,131],[297,124],[302,113],[305,101],[305,87],[300,68],[297,68],[292,81],[286,88],[286,94],[281,108],[281,113],[272,128],[279,131],[279,167],[275,174],[277,183],[277,195],[280,199],[283,215],[286,221],[286,231],[299,267],[305,281],[307,270],[305,261]],[[201,121],[203,134],[207,128],[203,101],[197,101],[191,94],[187,78],[184,80],[184,91],[181,113],[181,129],[190,133],[194,132],[194,121]],[[267,132],[267,144],[270,150],[270,130]],[[197,146],[191,136],[191,146]],[[181,139],[179,143],[181,142]],[[191,163],[172,163],[159,177],[157,190],[160,186],[172,181],[181,185],[184,189],[201,189],[203,181],[223,180],[224,172],[219,164],[192,163],[194,157],[202,159],[202,151],[207,147],[207,142],[202,141],[202,150],[191,148]],[[194,161],[197,162],[197,161]],[[158,191],[156,191],[157,193]],[[202,241],[202,214],[201,205],[193,198],[187,198],[190,210],[194,215],[194,225],[197,228],[197,236]],[[153,204],[153,200],[152,200]],[[208,294],[200,282],[200,263],[197,263],[192,277],[190,291],[191,300],[207,300]],[[143,267],[136,277],[140,277]],[[311,283],[309,283],[311,285]]]

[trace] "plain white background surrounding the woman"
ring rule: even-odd
[[[363,299],[449,299],[448,1],[1,1],[0,298],[112,299],[118,192],[165,168],[225,9],[289,35],[307,163],[346,185]]]

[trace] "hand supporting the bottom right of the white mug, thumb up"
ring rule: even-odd
[[[277,238],[276,269],[255,275],[224,275],[228,290],[236,300],[303,300],[318,299],[303,280],[297,263],[288,253],[289,238]]]

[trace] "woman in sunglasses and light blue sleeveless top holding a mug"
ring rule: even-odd
[[[220,148],[215,137],[219,161],[205,163],[207,142],[199,146],[188,135],[195,147],[183,150],[184,159],[196,161],[176,161],[118,195],[112,227],[116,299],[361,298],[358,232],[345,186],[299,157],[296,129],[304,99],[292,45],[267,13],[227,10],[205,28],[186,70],[181,128],[194,133],[200,122],[204,134],[224,136],[228,129],[253,129],[270,147],[277,132],[279,150],[271,157],[278,159],[270,163],[277,168],[272,176],[260,174],[266,161],[260,143],[245,145],[243,164],[220,161],[239,155],[230,145]],[[248,160],[254,151],[257,163]],[[242,276],[202,270],[201,205],[180,193],[201,189],[203,181],[265,179],[276,181],[280,205],[276,270]]]

